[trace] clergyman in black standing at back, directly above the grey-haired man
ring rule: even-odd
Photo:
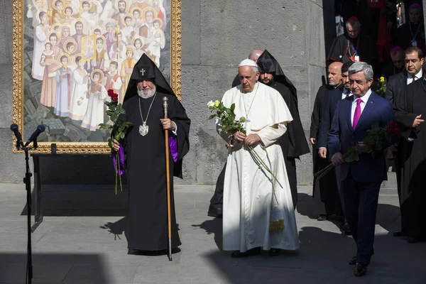
[[[361,23],[355,17],[346,21],[346,33],[334,38],[327,55],[329,62],[364,61],[371,64],[377,57],[376,44],[366,34],[361,33]]]

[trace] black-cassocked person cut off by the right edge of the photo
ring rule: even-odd
[[[408,84],[394,98],[395,120],[402,133],[400,155],[400,210],[403,234],[407,241],[426,241],[426,63],[423,78]]]

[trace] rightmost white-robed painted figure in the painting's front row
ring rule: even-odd
[[[82,127],[89,129],[90,131],[96,131],[99,129],[99,124],[104,123],[105,106],[104,102],[108,96],[107,89],[102,86],[101,82],[104,79],[104,73],[102,70],[95,69],[92,71],[92,84],[89,86],[87,92],[87,111],[84,114],[82,121]]]

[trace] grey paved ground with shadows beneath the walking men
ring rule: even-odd
[[[166,256],[127,255],[126,192],[105,186],[43,187],[45,219],[33,237],[33,283],[426,283],[426,244],[394,238],[398,197],[393,181],[381,190],[376,255],[368,275],[354,278],[347,260],[354,241],[333,222],[317,222],[320,203],[312,187],[299,187],[300,251],[231,258],[222,247],[220,219],[207,217],[211,186],[178,185],[175,193],[182,252]],[[25,283],[26,192],[0,185],[0,283]],[[149,232],[147,232],[149,234]]]

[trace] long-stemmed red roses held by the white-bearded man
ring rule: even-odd
[[[112,149],[112,162],[114,164],[114,170],[116,172],[116,186],[115,192],[117,194],[117,182],[120,182],[120,190],[123,191],[121,185],[121,175],[124,174],[124,148],[120,142],[119,151],[114,150],[114,140],[121,141],[126,136],[126,131],[131,126],[129,121],[124,121],[121,114],[126,114],[122,105],[119,103],[119,95],[114,93],[114,90],[108,90],[108,96],[111,98],[111,102],[105,102],[107,105],[107,115],[112,121],[111,124],[99,124],[99,129],[111,129],[111,137],[108,138],[108,146]]]

